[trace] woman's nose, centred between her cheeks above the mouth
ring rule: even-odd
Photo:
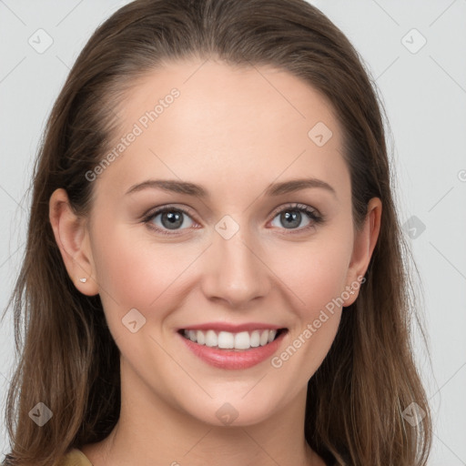
[[[230,308],[245,309],[264,298],[271,288],[270,271],[258,242],[239,228],[232,238],[214,232],[205,258],[202,289],[208,299],[224,301]]]

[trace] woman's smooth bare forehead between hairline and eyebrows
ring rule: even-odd
[[[117,115],[121,127],[111,148],[137,136],[102,178],[122,187],[150,175],[196,176],[200,184],[238,192],[251,181],[265,187],[303,175],[349,187],[333,108],[283,70],[170,63],[137,79]]]

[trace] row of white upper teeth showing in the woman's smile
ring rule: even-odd
[[[218,347],[221,349],[249,349],[265,346],[277,336],[277,330],[253,330],[231,333],[215,330],[184,330],[183,335],[198,345]]]

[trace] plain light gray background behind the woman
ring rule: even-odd
[[[409,240],[420,270],[425,297],[421,313],[432,360],[430,366],[415,328],[416,358],[434,413],[429,464],[466,465],[466,0],[311,3],[348,35],[383,99],[400,218],[404,224],[416,216],[425,225],[421,233],[406,228],[406,235],[420,233]],[[125,4],[0,0],[2,309],[25,248],[30,200],[25,189],[46,117],[88,37]],[[46,35],[36,33],[40,28],[53,39],[42,54],[28,43],[31,36],[38,43],[39,34],[41,45],[46,45]],[[418,50],[423,38],[427,42]],[[10,316],[0,332],[3,409],[14,361]],[[7,450],[6,442],[2,422],[2,451]]]

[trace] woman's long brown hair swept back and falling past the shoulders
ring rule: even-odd
[[[56,465],[71,447],[103,440],[118,420],[119,351],[99,297],[81,294],[68,277],[48,202],[64,187],[86,215],[94,184],[84,174],[115,136],[113,109],[124,89],[191,56],[275,66],[329,99],[343,130],[355,227],[370,198],[383,208],[367,281],[309,380],[306,439],[339,465],[425,464],[431,414],[412,354],[410,250],[395,209],[383,106],[349,40],[304,0],[137,0],[100,25],[78,56],[36,160],[25,258],[8,303],[19,362],[8,392],[5,464]],[[43,427],[28,415],[38,402],[53,411]],[[402,415],[412,402],[425,412],[414,426]]]

